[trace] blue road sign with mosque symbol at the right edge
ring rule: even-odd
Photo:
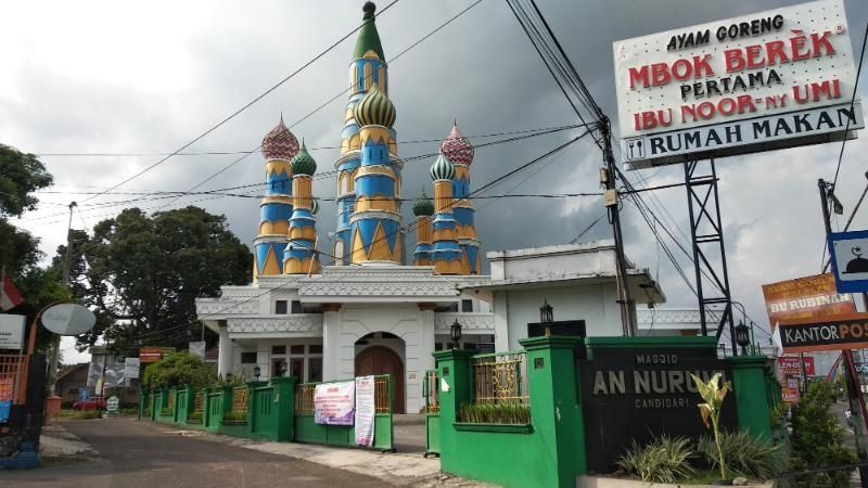
[[[868,292],[868,231],[832,233],[829,252],[838,291]]]

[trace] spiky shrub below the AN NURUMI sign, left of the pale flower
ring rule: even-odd
[[[689,459],[693,455],[690,439],[661,435],[640,447],[635,440],[617,465],[642,481],[677,483],[693,475]]]

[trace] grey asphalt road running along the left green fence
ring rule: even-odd
[[[66,422],[100,457],[49,460],[41,470],[0,471],[15,487],[382,487],[378,478],[222,441],[184,437],[129,419]]]

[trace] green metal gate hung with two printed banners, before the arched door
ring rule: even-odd
[[[371,449],[395,452],[395,431],[392,424],[392,397],[395,393],[392,388],[392,375],[380,374],[374,378],[375,413]],[[358,448],[355,425],[323,425],[314,421],[314,390],[319,384],[321,383],[303,383],[296,386],[293,441]]]

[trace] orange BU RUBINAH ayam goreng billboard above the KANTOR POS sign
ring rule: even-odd
[[[763,296],[773,330],[783,320],[856,312],[853,296],[838,293],[832,273],[765,284]]]

